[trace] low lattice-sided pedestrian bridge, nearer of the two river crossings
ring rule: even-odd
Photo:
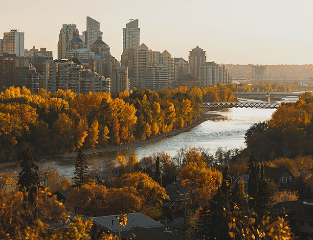
[[[278,108],[280,102],[203,102],[201,108]]]

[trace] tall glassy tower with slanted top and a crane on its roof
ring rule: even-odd
[[[135,19],[123,28],[123,51],[125,48],[138,48],[139,44],[140,28],[138,28],[138,19]]]

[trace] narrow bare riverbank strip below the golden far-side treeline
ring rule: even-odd
[[[203,113],[203,114],[201,114],[201,117],[199,117],[194,123],[192,123],[192,124],[190,124],[188,126],[185,126],[183,128],[173,129],[172,131],[170,131],[168,133],[162,133],[162,134],[156,135],[156,136],[154,136],[152,138],[141,140],[141,141],[136,141],[136,142],[133,142],[133,143],[126,143],[126,144],[119,144],[119,145],[108,144],[107,146],[99,147],[99,148],[96,148],[96,149],[84,150],[84,153],[86,155],[91,155],[91,154],[97,154],[97,153],[126,150],[126,149],[131,149],[131,148],[135,148],[135,147],[139,147],[139,146],[154,144],[154,143],[157,143],[157,142],[162,141],[164,139],[177,136],[180,133],[188,132],[192,128],[194,128],[195,126],[197,126],[197,125],[201,124],[202,122],[208,120],[209,118],[219,117],[219,116],[221,116],[221,115],[220,114]],[[68,154],[60,154],[60,155],[57,155],[57,156],[72,158],[72,157],[76,156],[76,153],[73,152],[73,153],[68,153]]]

